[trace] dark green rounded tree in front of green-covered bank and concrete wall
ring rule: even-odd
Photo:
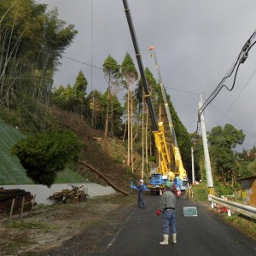
[[[11,152],[20,159],[27,177],[50,187],[57,173],[79,158],[80,149],[79,139],[72,131],[52,131],[20,140]]]

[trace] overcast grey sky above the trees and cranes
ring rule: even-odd
[[[121,64],[127,52],[137,61],[121,0],[36,0],[57,8],[59,18],[79,34],[61,60],[55,86],[73,85],[82,70],[88,90],[104,92],[102,63],[108,55]],[[127,0],[143,66],[158,79],[148,47],[155,46],[167,93],[183,125],[197,127],[198,102],[206,101],[230,70],[256,29],[255,0]],[[72,61],[70,59],[76,60]],[[80,62],[79,62],[80,61]],[[82,62],[82,63],[81,63]],[[83,64],[84,63],[84,64]],[[90,67],[90,65],[94,67]],[[256,46],[240,66],[232,91],[221,90],[207,107],[207,131],[229,123],[246,134],[242,148],[256,146]],[[231,87],[234,75],[227,80]],[[201,130],[200,130],[201,134]]]

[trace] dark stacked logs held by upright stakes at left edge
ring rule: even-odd
[[[32,210],[34,196],[24,189],[0,188],[0,218],[6,217],[10,212],[18,214]]]

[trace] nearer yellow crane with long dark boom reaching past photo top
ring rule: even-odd
[[[150,97],[150,91],[148,88],[148,82],[144,73],[143,68],[143,61],[141,58],[141,54],[138,49],[137,45],[137,37],[133,28],[132,20],[131,20],[131,14],[130,9],[128,6],[128,3],[126,0],[123,0],[124,7],[125,7],[125,15],[128,22],[128,26],[130,28],[131,32],[131,39],[132,43],[135,49],[135,54],[137,57],[137,64],[139,67],[139,71],[141,74],[141,79],[143,81],[143,89],[145,91],[145,99],[148,104],[148,111],[150,115],[150,119],[152,122],[152,130],[154,134],[154,143],[159,153],[159,166],[157,167],[156,172],[151,174],[151,179],[148,182],[148,189],[150,191],[161,191],[161,189],[164,189],[164,183],[166,183],[167,178],[172,178],[173,180],[176,179],[177,183],[177,189],[180,189],[180,181],[182,181],[179,177],[176,177],[175,172],[171,170],[171,156],[169,149],[166,144],[166,137],[165,137],[165,131],[164,131],[164,125],[162,122],[156,121],[155,113],[154,113],[154,107],[152,103],[152,99]],[[133,186],[131,185],[131,188]]]

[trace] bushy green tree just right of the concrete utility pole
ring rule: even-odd
[[[243,131],[236,130],[233,125],[216,126],[208,132],[210,155],[216,175],[222,179],[226,186],[234,188],[236,178],[240,175],[236,157],[232,149],[242,144],[245,135]]]

